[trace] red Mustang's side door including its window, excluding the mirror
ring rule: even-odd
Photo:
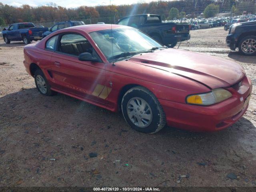
[[[81,53],[89,52],[97,62],[80,61]],[[53,87],[78,97],[106,104],[105,66],[90,42],[76,33],[60,34],[56,51],[52,53]]]

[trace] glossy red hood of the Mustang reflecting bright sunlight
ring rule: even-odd
[[[244,68],[235,62],[174,48],[137,55],[129,61],[189,78],[211,89],[236,84],[245,75]]]

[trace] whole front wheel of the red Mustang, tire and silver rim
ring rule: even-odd
[[[166,124],[166,116],[158,99],[142,86],[131,88],[124,94],[122,113],[126,122],[142,133],[156,133]]]

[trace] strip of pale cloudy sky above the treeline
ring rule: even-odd
[[[22,4],[28,4],[30,6],[41,6],[47,5],[50,2],[56,3],[59,6],[63,6],[66,8],[74,8],[82,5],[86,6],[96,6],[96,5],[108,5],[110,4],[110,0],[0,0],[4,4],[12,5],[12,6],[22,6]],[[151,2],[153,0],[111,0],[111,4],[120,5],[120,4],[134,4],[141,2]],[[156,0],[154,0],[156,1]]]

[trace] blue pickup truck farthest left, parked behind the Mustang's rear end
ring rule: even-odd
[[[2,32],[4,42],[9,44],[11,41],[23,41],[30,44],[32,40],[42,39],[42,34],[48,31],[47,27],[36,27],[33,23],[14,23]]]

